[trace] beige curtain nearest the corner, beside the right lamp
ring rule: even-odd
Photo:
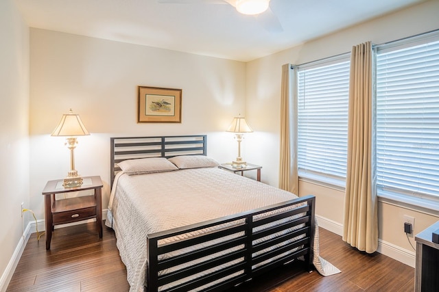
[[[281,83],[281,154],[279,188],[298,195],[297,173],[297,96],[295,70],[291,64],[282,66]]]

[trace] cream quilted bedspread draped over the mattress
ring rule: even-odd
[[[106,222],[115,230],[130,291],[143,291],[146,235],[285,202],[296,195],[218,168],[118,174]]]

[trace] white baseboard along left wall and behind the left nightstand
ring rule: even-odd
[[[107,217],[107,209],[104,209],[104,210],[102,210],[102,220],[106,220],[106,217]],[[62,225],[57,225],[56,228],[58,229],[58,228],[62,228],[62,227],[72,226],[72,225],[85,224],[85,223],[93,222],[93,221],[95,221],[95,220],[90,219],[90,220],[84,220],[81,222],[62,224]],[[32,233],[36,233],[37,227],[38,227],[39,233],[45,231],[45,229],[46,229],[45,228],[45,220],[37,220],[36,222],[31,221],[27,224],[25,230],[23,231],[23,236],[20,238],[19,243],[16,245],[16,248],[14,250],[14,254],[12,254],[12,257],[8,263],[8,266],[6,267],[5,271],[1,275],[0,292],[4,292],[8,288],[8,285],[9,285],[9,282],[12,278],[12,275],[14,275],[15,268],[19,264],[21,255],[23,254],[23,250],[25,250],[25,246],[27,244],[27,241],[29,240],[29,237],[30,237],[30,235],[32,235]],[[43,237],[43,239],[45,240],[45,237]]]

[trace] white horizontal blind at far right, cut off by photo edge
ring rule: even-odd
[[[439,42],[377,52],[377,189],[439,198]]]

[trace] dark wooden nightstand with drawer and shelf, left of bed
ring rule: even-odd
[[[57,224],[78,222],[96,218],[96,227],[99,238],[102,238],[102,180],[100,176],[84,176],[84,183],[80,187],[64,188],[62,179],[48,181],[43,189],[45,196],[45,221],[46,221],[46,250],[50,250],[52,231]],[[94,189],[93,196],[82,196],[55,200],[56,194],[71,191],[85,191]]]

